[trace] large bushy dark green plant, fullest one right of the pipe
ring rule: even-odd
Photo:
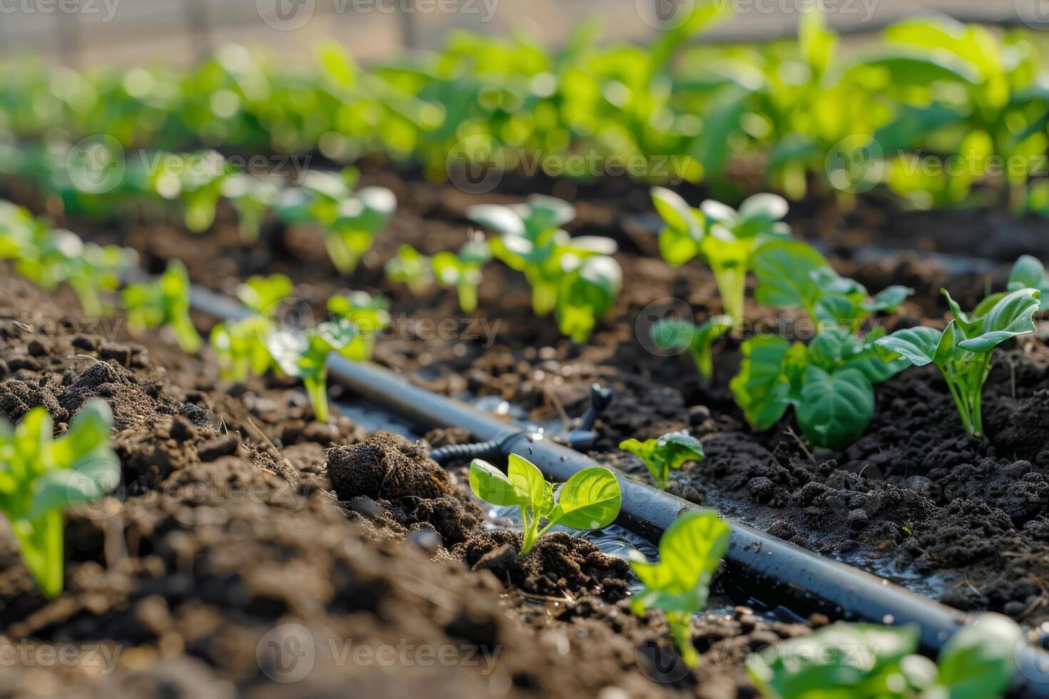
[[[840,449],[874,416],[874,385],[906,367],[878,354],[875,343],[883,329],[866,336],[856,331],[873,313],[894,311],[911,290],[893,286],[871,297],[799,242],[769,243],[753,264],[755,299],[776,308],[806,309],[818,333],[808,346],[769,334],[744,342],[740,373],[729,384],[732,395],[755,430],[768,430],[794,406],[807,441]]]

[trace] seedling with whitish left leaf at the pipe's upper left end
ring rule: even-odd
[[[302,380],[320,422],[330,417],[327,401],[327,356],[338,352],[348,358],[359,353],[357,326],[345,320],[321,323],[306,331],[279,330],[266,338],[270,354],[287,376]]]

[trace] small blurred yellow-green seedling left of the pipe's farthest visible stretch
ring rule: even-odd
[[[159,279],[126,286],[124,310],[132,332],[142,333],[166,325],[175,333],[184,352],[196,354],[200,351],[200,335],[190,319],[189,275],[181,262],[169,262]]]

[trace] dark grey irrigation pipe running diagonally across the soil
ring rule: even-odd
[[[222,320],[251,315],[232,299],[198,287],[192,289],[191,304],[195,310]],[[486,455],[524,456],[550,480],[566,481],[580,469],[596,465],[585,455],[540,433],[515,429],[459,400],[414,386],[383,367],[333,354],[328,368],[333,378],[366,402],[424,429],[464,428],[478,440],[488,442]],[[469,455],[464,452],[458,456]],[[678,516],[700,508],[622,474],[616,473],[616,477],[623,497],[617,523],[654,544]],[[746,524],[726,522],[732,528],[724,559],[726,570],[735,586],[755,593],[758,599],[779,595],[794,611],[821,613],[832,619],[914,624],[921,629],[923,650],[929,653],[938,653],[961,626],[973,620],[963,612],[852,566]],[[1015,660],[1018,674],[1010,696],[1049,698],[1049,654],[1025,643],[1015,650]]]

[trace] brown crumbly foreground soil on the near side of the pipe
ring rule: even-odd
[[[62,430],[105,399],[124,482],[68,514],[53,600],[0,533],[2,696],[751,697],[746,653],[808,631],[708,614],[704,664],[660,672],[667,630],[629,613],[619,560],[553,534],[511,562],[425,446],[58,303],[0,269],[0,417],[46,405]]]

